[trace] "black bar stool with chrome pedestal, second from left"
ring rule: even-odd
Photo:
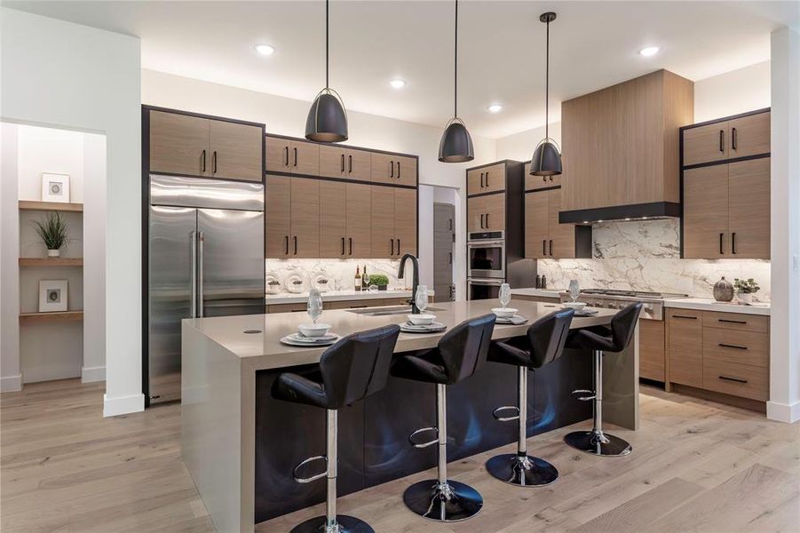
[[[400,357],[392,376],[436,384],[436,427],[418,429],[408,437],[416,448],[439,444],[439,475],[436,480],[419,481],[406,489],[403,501],[408,509],[434,521],[462,521],[478,514],[483,497],[469,485],[448,480],[448,409],[446,386],[469,378],[486,362],[495,314],[462,322],[440,338],[439,345],[423,353]],[[417,434],[432,431],[436,439],[417,443]]]

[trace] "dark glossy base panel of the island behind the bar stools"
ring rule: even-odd
[[[255,523],[325,501],[324,479],[301,484],[292,478],[297,463],[325,454],[325,411],[273,399],[271,389],[280,373],[260,370],[256,377]],[[528,437],[591,418],[591,402],[571,394],[591,388],[590,352],[566,350],[556,362],[532,372]],[[432,384],[389,378],[380,393],[339,411],[340,496],[436,465],[435,446],[416,449],[408,443],[416,429],[435,426],[435,391]],[[448,386],[448,459],[516,442],[516,423],[492,417],[492,410],[516,401],[517,369],[509,365],[489,362],[471,378]],[[303,477],[325,468],[321,461],[310,466]]]

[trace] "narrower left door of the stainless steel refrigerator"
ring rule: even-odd
[[[180,398],[180,321],[193,316],[197,210],[150,207],[148,394]]]

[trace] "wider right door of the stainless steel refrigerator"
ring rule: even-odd
[[[200,316],[264,313],[264,213],[197,211]]]

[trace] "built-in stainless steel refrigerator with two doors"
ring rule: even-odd
[[[148,403],[180,398],[180,321],[264,313],[264,186],[150,176]]]

